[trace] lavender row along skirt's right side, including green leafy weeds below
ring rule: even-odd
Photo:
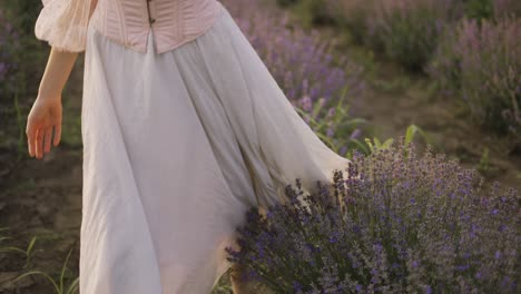
[[[268,1],[224,0],[235,21],[309,127],[345,156],[358,145],[361,119],[347,105],[363,90],[362,68],[334,58],[335,40],[292,26]]]

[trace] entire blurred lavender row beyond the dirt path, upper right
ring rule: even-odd
[[[422,70],[479,124],[521,141],[521,2],[324,1],[355,40]]]

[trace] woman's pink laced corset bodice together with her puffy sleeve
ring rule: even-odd
[[[92,28],[139,52],[154,33],[157,53],[204,33],[216,21],[217,0],[42,0],[35,27],[38,39],[66,51],[83,51]]]

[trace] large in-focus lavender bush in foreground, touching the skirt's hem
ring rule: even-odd
[[[275,293],[519,293],[515,190],[429,148],[360,154],[331,187],[252,209],[228,259]]]

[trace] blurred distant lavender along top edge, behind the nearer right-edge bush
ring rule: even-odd
[[[355,40],[383,51],[412,69],[423,69],[443,27],[462,17],[501,19],[521,16],[515,0],[309,0],[328,7],[332,18]]]

